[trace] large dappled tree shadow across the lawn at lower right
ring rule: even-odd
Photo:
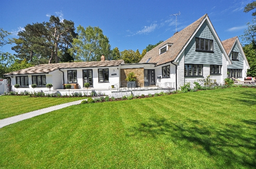
[[[199,147],[196,151],[207,152],[218,168],[256,168],[254,119],[243,120],[238,125],[213,126],[199,120],[186,119],[182,123],[174,123],[165,118],[150,118],[148,122],[133,127],[129,136],[166,139],[166,142],[173,142],[187,151],[195,151],[194,147]]]

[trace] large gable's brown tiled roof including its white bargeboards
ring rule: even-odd
[[[188,25],[186,28],[182,29],[181,31],[175,33],[174,36],[162,42],[161,44],[157,45],[152,50],[148,51],[146,55],[139,62],[145,63],[149,59],[148,63],[157,63],[156,66],[158,66],[171,61],[176,61],[177,58],[179,58],[179,56],[183,52],[183,50],[185,50],[185,47],[191,41],[191,39],[193,38],[197,30],[199,30],[200,26],[205,20],[208,21],[210,25],[210,29],[213,31],[213,36],[217,39],[217,43],[219,44],[219,46],[221,46],[220,48],[224,53],[225,58],[231,64],[231,61],[228,58],[228,55],[225,52],[224,47],[222,46],[219,36],[214,30],[207,14],[205,14],[204,16],[202,16],[201,18],[193,22],[191,25]],[[165,53],[162,53],[159,55],[159,48],[168,43],[172,44],[171,47],[169,47]]]

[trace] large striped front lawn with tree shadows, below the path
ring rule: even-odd
[[[256,89],[70,106],[0,128],[0,168],[256,168]]]

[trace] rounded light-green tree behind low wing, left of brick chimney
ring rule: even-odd
[[[79,25],[77,33],[69,50],[75,61],[100,61],[102,54],[106,60],[112,60],[108,37],[99,27],[88,26],[85,29]]]

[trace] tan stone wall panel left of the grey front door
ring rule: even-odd
[[[142,83],[144,86],[144,68],[131,68],[131,69],[120,69],[120,80],[125,81],[126,76],[130,73],[134,72],[137,76],[136,83]]]

